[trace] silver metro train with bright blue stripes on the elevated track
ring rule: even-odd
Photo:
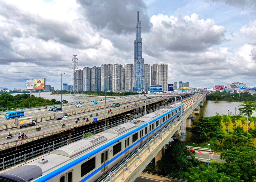
[[[142,116],[139,120],[83,138],[0,173],[0,181],[95,181],[177,118],[183,109],[184,104],[176,103]]]

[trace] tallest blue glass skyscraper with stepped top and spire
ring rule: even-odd
[[[144,90],[144,59],[142,58],[141,22],[137,12],[136,40],[134,40],[134,91]]]

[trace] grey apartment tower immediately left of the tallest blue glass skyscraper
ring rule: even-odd
[[[134,64],[124,64],[124,90],[131,91],[134,87]]]

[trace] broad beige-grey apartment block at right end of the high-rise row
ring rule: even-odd
[[[151,85],[162,85],[163,91],[168,91],[168,76],[167,64],[151,66]]]

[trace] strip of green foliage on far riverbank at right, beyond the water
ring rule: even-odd
[[[207,100],[229,100],[229,101],[255,101],[256,94],[251,95],[248,92],[229,94],[226,92],[216,92],[206,97]]]

